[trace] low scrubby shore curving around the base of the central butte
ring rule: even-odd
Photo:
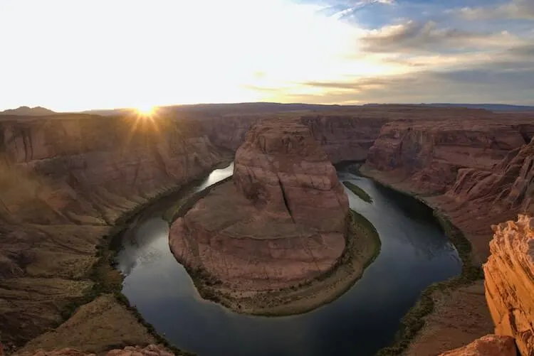
[[[224,182],[220,182],[224,183]],[[214,188],[212,185],[210,188]],[[187,208],[209,192],[199,192],[187,199],[174,218],[185,215]],[[380,239],[375,227],[365,217],[351,211],[350,229],[345,249],[334,266],[324,274],[302,281],[290,288],[268,291],[238,291],[202,269],[184,267],[202,298],[220,303],[236,313],[249,315],[295,315],[306,313],[334,301],[360,279],[363,271],[379,254]]]

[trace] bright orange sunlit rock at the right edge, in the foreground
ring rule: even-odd
[[[521,355],[534,355],[534,218],[519,215],[492,228],[484,274],[496,333],[515,338]]]

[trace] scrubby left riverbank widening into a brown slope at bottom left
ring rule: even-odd
[[[157,201],[191,191],[211,171],[228,166],[231,161],[231,157],[227,157],[193,177],[189,183],[159,190],[150,198],[139,198],[142,203],[122,212],[95,246],[95,263],[82,278],[83,281],[89,281],[90,286],[83,292],[83,296],[66,306],[61,306],[63,323],[58,325],[58,328],[48,330],[47,333],[31,340],[16,353],[58,347],[75,347],[83,352],[98,353],[127,345],[158,343],[176,355],[194,355],[172,346],[142,318],[135,306],[130,305],[121,291],[124,276],[114,268],[113,264],[121,247],[122,234],[130,225],[135,224],[142,212],[150,209]]]

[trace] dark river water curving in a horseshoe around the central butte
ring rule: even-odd
[[[204,301],[169,251],[169,226],[161,212],[170,200],[157,203],[125,234],[117,256],[125,274],[122,293],[169,342],[201,356],[374,355],[392,341],[419,293],[459,274],[461,261],[426,205],[338,169],[340,180],[372,196],[373,203],[365,203],[345,189],[352,209],[377,228],[382,250],[362,279],[332,303],[302,315],[266,318]],[[196,190],[231,171],[212,173]]]

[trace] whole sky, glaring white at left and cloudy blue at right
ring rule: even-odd
[[[534,104],[534,0],[0,0],[0,109]]]

